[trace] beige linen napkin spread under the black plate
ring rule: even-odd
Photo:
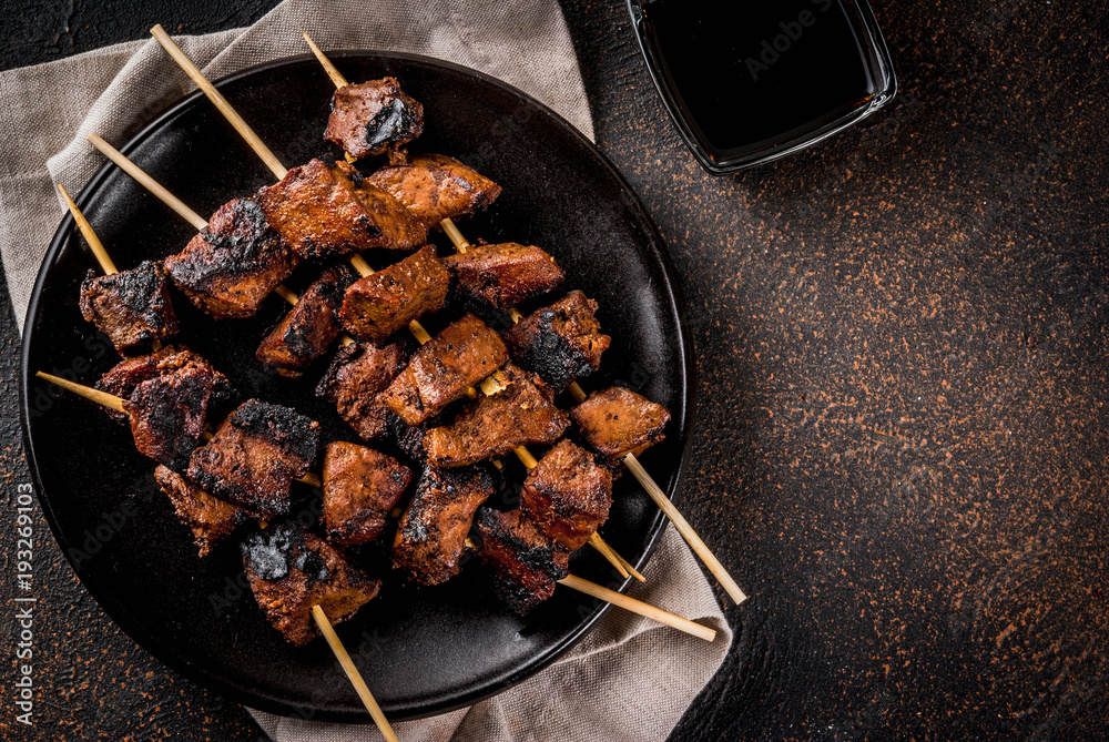
[[[172,28],[172,19],[166,19]],[[577,58],[558,4],[546,0],[286,0],[256,24],[177,39],[211,78],[324,49],[389,49],[470,67],[537,98],[592,139]],[[95,131],[122,144],[193,84],[153,40],[0,73],[0,253],[16,316],[64,209],[103,163]],[[230,196],[231,194],[228,194]],[[620,610],[577,648],[516,688],[469,709],[397,724],[438,742],[663,740],[716,672],[732,634],[698,562],[672,527],[632,596],[718,630],[709,644]],[[279,742],[379,739],[372,725],[324,724],[251,710]]]

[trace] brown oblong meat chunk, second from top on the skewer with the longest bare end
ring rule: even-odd
[[[339,321],[359,340],[380,345],[413,319],[441,309],[449,286],[450,274],[435,247],[427,245],[355,282],[343,299]]]

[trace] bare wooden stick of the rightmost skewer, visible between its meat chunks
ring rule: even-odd
[[[323,53],[323,51],[321,51],[321,49],[315,44],[315,42],[313,42],[312,39],[308,38],[308,34],[305,33],[302,35],[308,43],[308,47],[312,49],[313,53],[316,55],[316,59],[318,59],[321,64],[324,67],[324,70],[327,72],[327,75],[330,78],[332,82],[335,83],[336,89],[338,91],[342,91],[348,88],[349,83],[338,71],[338,69],[330,62],[330,60],[327,59],[327,57]],[[336,143],[346,146],[347,142],[349,142],[350,140],[356,141],[356,139],[357,138],[347,138],[337,141]],[[347,149],[347,151],[350,152],[349,149]],[[350,154],[360,156],[357,155],[355,152],[350,152]],[[460,252],[465,252],[468,247],[470,247],[469,242],[466,241],[466,238],[461,235],[461,233],[449,220],[449,217],[444,221],[442,230],[447,234],[447,236],[450,237],[456,248],[458,248]],[[507,307],[499,307],[499,308],[507,308]],[[517,323],[520,322],[521,315],[515,308],[509,308],[508,314],[513,322]],[[562,378],[567,377],[562,376]],[[551,380],[558,380],[558,379],[556,378]],[[572,376],[569,376],[567,380],[569,380],[568,388],[570,390],[570,394],[573,395],[574,399],[577,399],[577,402],[581,404],[586,403],[587,395],[578,385],[578,383],[573,380]],[[610,394],[608,397],[603,399],[613,402],[612,394]],[[623,395],[622,402],[625,403],[629,402],[625,395]],[[597,405],[600,404],[601,404],[600,402],[597,403]],[[669,415],[667,417],[669,418]],[[654,481],[654,479],[650,476],[650,474],[648,474],[647,469],[643,468],[642,464],[640,464],[635,455],[637,451],[632,450],[631,448],[628,448],[622,451],[609,451],[609,453],[610,455],[620,454],[620,460],[624,464],[624,466],[628,467],[628,470],[632,472],[632,476],[635,477],[635,479],[640,482],[640,485],[648,492],[651,499],[654,500],[654,502],[663,510],[663,512],[671,520],[671,522],[674,524],[674,527],[686,540],[686,542],[693,549],[694,553],[696,553],[698,557],[701,558],[701,560],[709,568],[709,570],[713,573],[713,576],[716,577],[716,579],[724,587],[724,590],[729,593],[729,596],[731,596],[731,598],[736,603],[741,603],[744,600],[746,600],[746,594],[744,594],[743,590],[740,589],[739,585],[735,583],[735,580],[732,579],[728,570],[724,569],[724,566],[720,563],[720,560],[716,559],[715,555],[712,553],[712,550],[709,549],[708,545],[705,545],[705,542],[701,539],[701,537],[696,535],[693,527],[689,524],[688,520],[685,520],[685,518],[681,515],[681,512],[673,505],[670,498],[665,496],[665,492],[662,491],[662,488],[659,487],[659,485]]]

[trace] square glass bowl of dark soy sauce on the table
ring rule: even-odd
[[[787,144],[878,92],[841,0],[653,0],[639,31],[715,162]]]

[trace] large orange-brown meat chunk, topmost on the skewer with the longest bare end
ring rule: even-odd
[[[427,230],[391,195],[363,182],[348,162],[313,160],[281,183],[258,191],[266,218],[297,255],[307,258],[360,253],[373,247],[410,250]]]

